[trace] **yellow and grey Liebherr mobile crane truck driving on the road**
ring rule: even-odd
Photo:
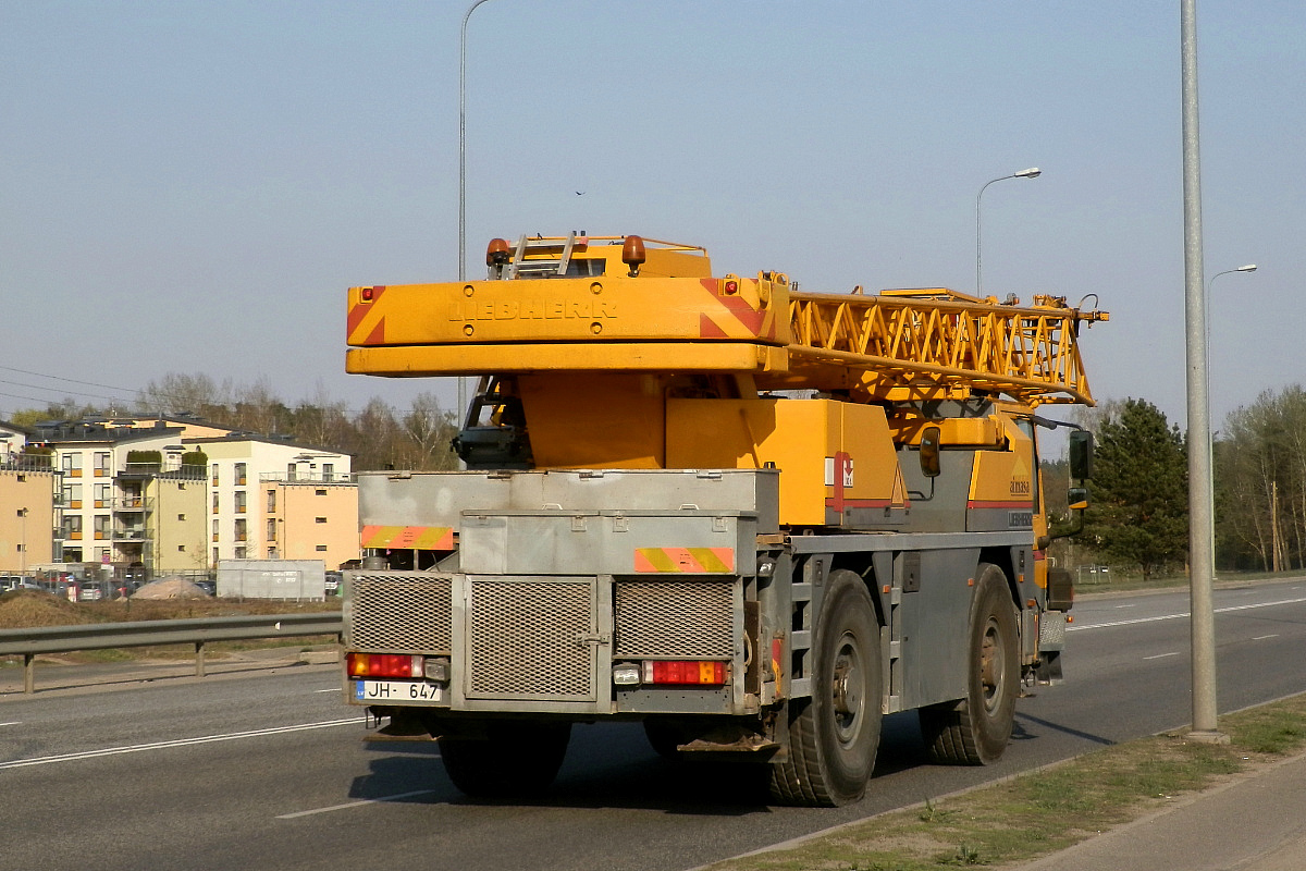
[[[370,736],[436,738],[458,789],[509,795],[551,784],[573,723],[640,721],[818,806],[863,794],[888,713],[939,761],[1002,755],[1072,601],[1036,409],[1092,404],[1105,312],[799,293],[633,235],[495,239],[486,265],[349,291],[347,371],[478,377],[465,470],[358,475]]]

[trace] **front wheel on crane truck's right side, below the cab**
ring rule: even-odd
[[[996,761],[1007,750],[1016,718],[1020,648],[1007,576],[990,563],[981,563],[976,576],[966,697],[919,712],[930,759],[949,765]]]

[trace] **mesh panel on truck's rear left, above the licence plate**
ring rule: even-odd
[[[449,653],[451,580],[427,572],[353,575],[347,644],[360,650]]]

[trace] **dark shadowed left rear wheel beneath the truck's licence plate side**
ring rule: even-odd
[[[558,776],[571,723],[491,722],[485,739],[440,738],[449,780],[473,798],[542,795]]]

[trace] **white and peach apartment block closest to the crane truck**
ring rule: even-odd
[[[359,556],[358,484],[347,453],[229,432],[184,439],[209,460],[209,560]]]

